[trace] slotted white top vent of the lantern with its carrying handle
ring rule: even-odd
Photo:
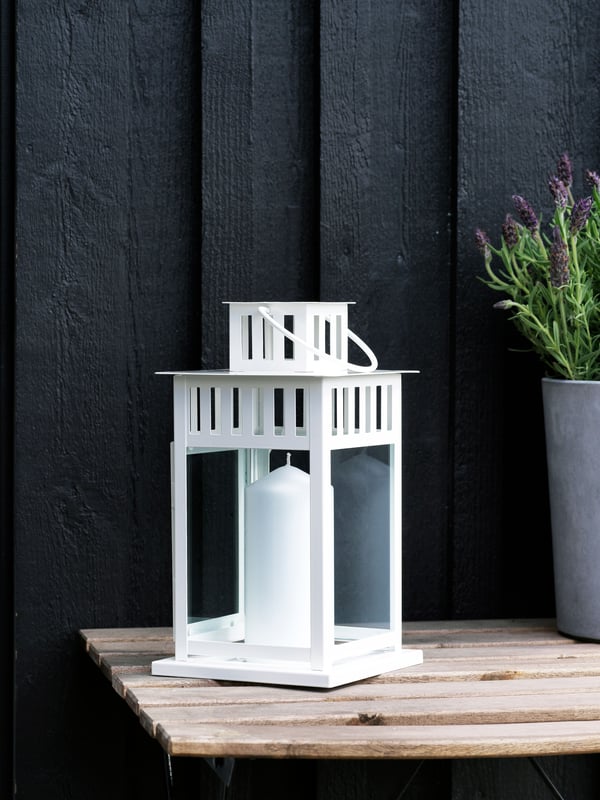
[[[349,303],[227,305],[232,372],[341,375],[377,369],[373,351],[348,328]],[[368,365],[349,363],[349,341],[367,356]]]

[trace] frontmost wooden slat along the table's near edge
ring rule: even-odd
[[[319,726],[310,736],[294,726],[179,724],[158,727],[158,741],[171,755],[261,758],[483,758],[565,755],[600,751],[593,722],[508,725],[340,726],[335,741]]]

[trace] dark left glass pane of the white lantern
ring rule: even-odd
[[[238,451],[188,455],[189,622],[239,610]]]

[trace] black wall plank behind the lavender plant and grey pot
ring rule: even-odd
[[[499,242],[522,194],[544,219],[546,188],[567,150],[582,191],[600,163],[595,122],[600,12],[536,1],[515,25],[516,2],[460,4],[455,389],[454,611],[471,616],[552,615],[552,562],[540,365],[523,348],[483,273],[473,231]],[[526,345],[525,345],[526,347]]]

